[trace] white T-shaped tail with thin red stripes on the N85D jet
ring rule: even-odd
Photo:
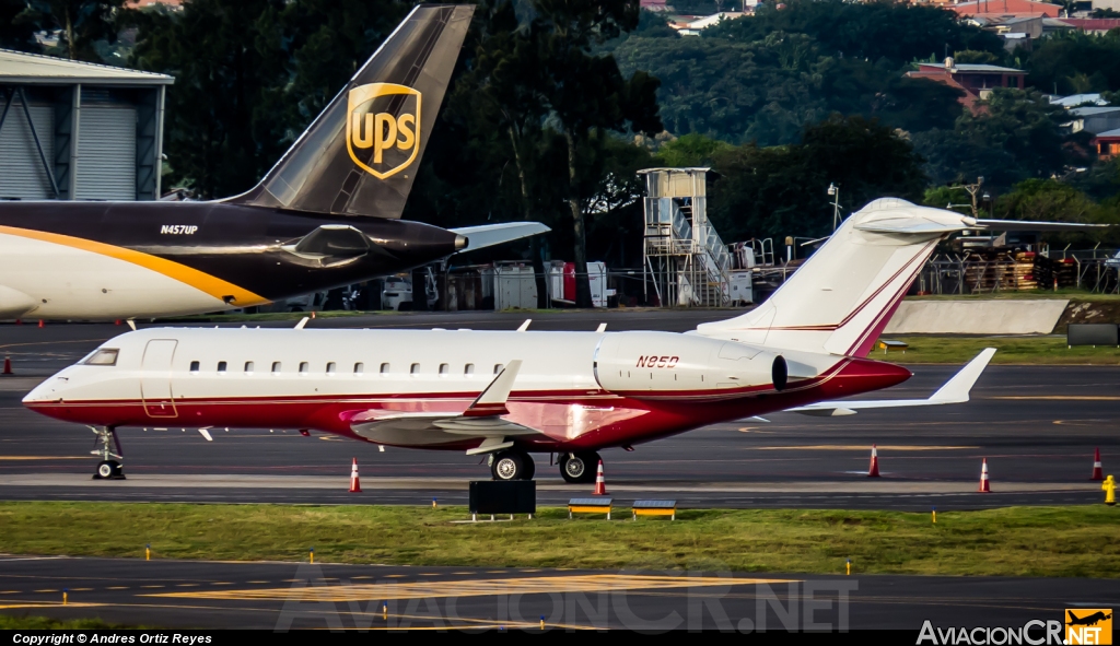
[[[972,231],[1084,231],[1107,225],[976,219],[883,198],[852,214],[756,309],[697,328],[745,344],[865,357],[939,242]]]

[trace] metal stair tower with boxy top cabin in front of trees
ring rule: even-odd
[[[730,305],[731,254],[708,221],[707,168],[651,168],[645,176],[643,273],[670,307]]]

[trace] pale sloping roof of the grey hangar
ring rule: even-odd
[[[25,54],[11,49],[0,49],[0,83],[21,85],[65,85],[83,83],[88,85],[170,85],[175,78],[166,74],[110,67],[95,63],[80,63]]]

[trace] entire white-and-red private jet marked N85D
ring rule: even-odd
[[[909,371],[867,358],[936,243],[954,232],[1076,225],[977,221],[879,199],[849,217],[766,302],[687,334],[147,328],[46,380],[24,403],[95,428],[99,472],[121,472],[116,430],[315,429],[354,440],[488,455],[532,478],[561,455],[568,481],[598,451],[792,411],[962,403],[995,349],[924,400],[849,400]]]

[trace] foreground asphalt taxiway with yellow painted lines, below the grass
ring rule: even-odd
[[[67,606],[62,605],[67,590]],[[811,597],[811,598],[810,598]],[[757,631],[1021,627],[1107,579],[411,568],[0,555],[0,612],[160,627]],[[782,615],[785,615],[783,619]],[[811,622],[811,624],[810,624]],[[1040,630],[1034,634],[1037,637]]]

